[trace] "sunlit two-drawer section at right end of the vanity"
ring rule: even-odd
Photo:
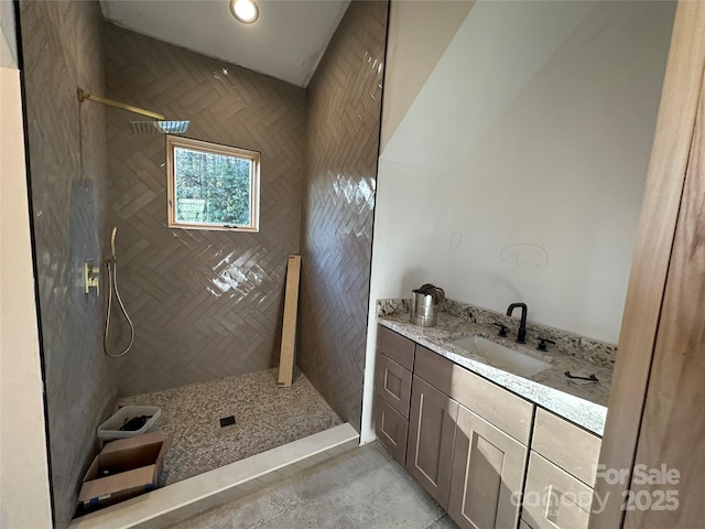
[[[522,521],[532,529],[586,529],[601,440],[539,409]]]

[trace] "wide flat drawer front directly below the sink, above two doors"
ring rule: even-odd
[[[533,404],[416,345],[414,375],[528,445]]]

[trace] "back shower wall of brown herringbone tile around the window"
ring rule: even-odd
[[[188,119],[184,136],[261,151],[260,233],[166,227],[165,138],[107,109],[109,224],[134,322],[121,396],[279,364],[286,261],[299,253],[303,88],[107,24],[107,95]],[[115,316],[115,342],[126,328]]]

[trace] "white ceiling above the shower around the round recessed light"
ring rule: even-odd
[[[288,83],[306,86],[349,0],[257,0],[241,24],[228,0],[101,0],[106,20]]]

